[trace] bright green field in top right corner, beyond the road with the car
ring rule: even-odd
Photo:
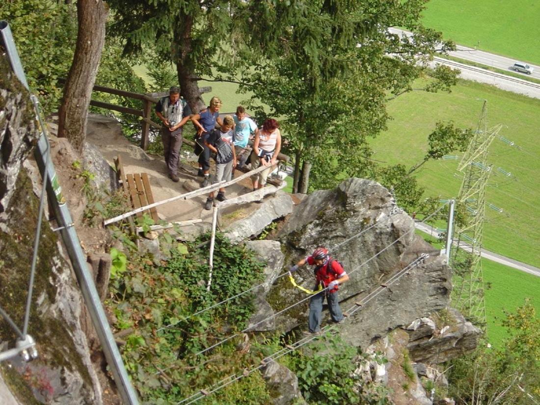
[[[424,25],[460,45],[540,64],[540,2],[430,0]]]

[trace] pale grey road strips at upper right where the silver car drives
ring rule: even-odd
[[[398,30],[395,28],[390,28],[390,32],[396,33],[398,35],[411,35],[408,31]],[[493,53],[488,53],[484,51],[475,51],[474,49],[467,48],[466,46],[458,45],[458,50],[450,52],[451,55],[460,57],[462,59],[471,60],[476,63],[481,63],[487,66],[494,66],[503,70],[508,70],[510,72],[510,66],[514,64],[515,60],[506,58],[499,55],[494,55]],[[466,80],[474,80],[475,82],[491,84],[499,89],[511,91],[514,93],[519,93],[528,97],[540,99],[540,85],[537,83],[529,82],[528,80],[523,80],[516,78],[514,76],[507,76],[501,73],[492,72],[487,69],[477,68],[476,66],[470,66],[458,62],[453,62],[452,60],[435,57],[434,61],[431,63],[431,66],[434,68],[436,64],[443,64],[450,66],[454,69],[460,69],[460,77]],[[520,73],[523,77],[537,77],[540,78],[540,67],[534,66],[535,71],[532,75],[525,75],[525,73]]]

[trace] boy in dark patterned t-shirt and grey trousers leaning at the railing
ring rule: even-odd
[[[216,154],[215,156],[215,175],[212,177],[212,184],[220,181],[230,181],[234,166],[236,166],[236,154],[234,153],[234,145],[231,138],[231,129],[234,120],[231,116],[223,118],[223,124],[219,129],[210,131],[208,137],[204,141],[210,151]],[[216,197],[218,201],[225,201],[225,188],[221,187]],[[205,210],[211,210],[214,204],[214,192],[211,192],[206,199]]]

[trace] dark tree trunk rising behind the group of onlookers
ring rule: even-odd
[[[205,104],[201,98],[199,86],[193,72],[193,66],[189,61],[191,53],[191,35],[193,29],[193,18],[191,16],[180,15],[174,30],[173,60],[176,60],[176,70],[178,73],[178,83],[180,83],[181,96],[190,105],[191,112],[198,114],[204,109]]]

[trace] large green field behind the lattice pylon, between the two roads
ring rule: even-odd
[[[486,202],[503,212],[487,206],[483,245],[540,267],[540,100],[464,80],[451,93],[408,93],[390,102],[394,119],[388,131],[372,141],[374,158],[412,166],[426,153],[427,136],[437,121],[453,120],[458,126],[475,128],[484,99],[488,100],[489,126],[503,124],[500,135],[515,145],[495,139],[489,149],[493,172]],[[457,163],[438,160],[422,166],[417,178],[426,196],[457,197],[463,177]]]

